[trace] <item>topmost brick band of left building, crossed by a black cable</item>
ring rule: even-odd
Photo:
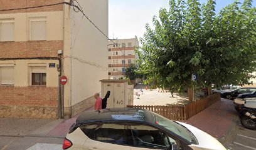
[[[0,9],[28,8],[33,6],[43,6],[63,2],[63,0],[1,0]],[[19,12],[43,12],[43,11],[62,11],[63,4],[48,6],[43,8],[23,9],[14,11],[0,11],[0,14],[19,13]]]

